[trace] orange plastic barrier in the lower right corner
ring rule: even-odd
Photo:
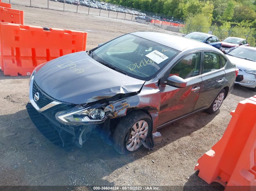
[[[222,138],[198,159],[195,170],[225,191],[256,190],[256,96],[238,103]]]

